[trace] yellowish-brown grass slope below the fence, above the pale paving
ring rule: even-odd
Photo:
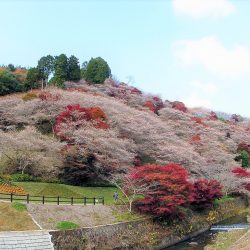
[[[10,203],[0,203],[0,231],[38,230],[26,209],[15,209]]]

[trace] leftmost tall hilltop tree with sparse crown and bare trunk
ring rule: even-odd
[[[37,68],[40,72],[41,79],[42,79],[42,88],[48,85],[48,79],[51,73],[54,71],[54,62],[55,58],[51,55],[43,56],[40,58],[37,64]]]

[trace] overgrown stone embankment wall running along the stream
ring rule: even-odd
[[[221,220],[237,215],[247,202],[237,198],[203,213],[189,212],[187,218],[171,226],[152,220],[123,222],[66,231],[51,231],[55,249],[164,249],[207,231]]]

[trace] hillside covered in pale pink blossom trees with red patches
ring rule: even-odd
[[[67,82],[64,90],[0,98],[0,169],[83,185],[98,179],[95,170],[119,175],[136,165],[174,162],[192,178],[217,179],[232,192],[240,189],[234,158],[240,143],[250,144],[249,131],[248,120],[226,121],[126,84]]]

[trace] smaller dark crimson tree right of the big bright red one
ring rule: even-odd
[[[192,205],[202,209],[211,208],[214,200],[222,196],[222,186],[218,181],[199,179],[193,185]]]

